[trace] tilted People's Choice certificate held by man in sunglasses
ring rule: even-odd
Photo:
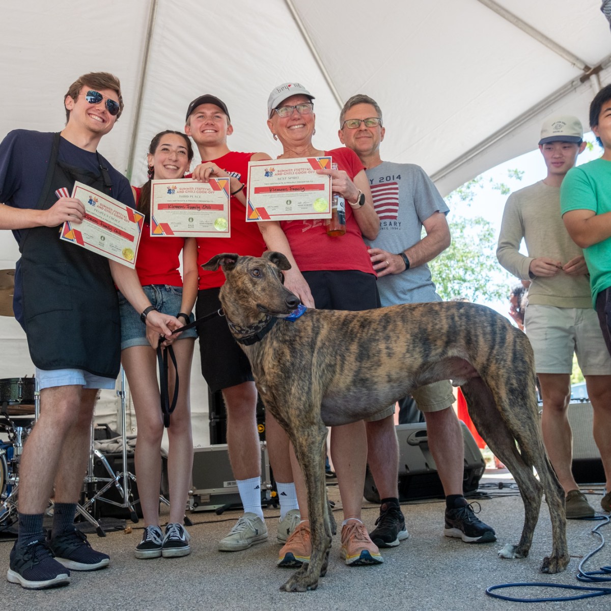
[[[85,216],[78,224],[66,221],[60,240],[78,244],[134,269],[144,215],[78,181],[72,197],[81,200]]]

